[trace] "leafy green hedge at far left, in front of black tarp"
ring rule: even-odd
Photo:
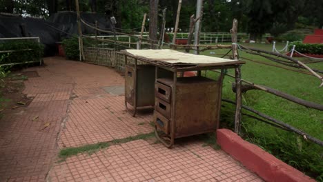
[[[0,44],[0,50],[15,51],[10,52],[10,54],[1,61],[1,64],[39,61],[43,55],[43,45],[30,40],[5,41]],[[0,53],[0,57],[3,54],[7,53]]]

